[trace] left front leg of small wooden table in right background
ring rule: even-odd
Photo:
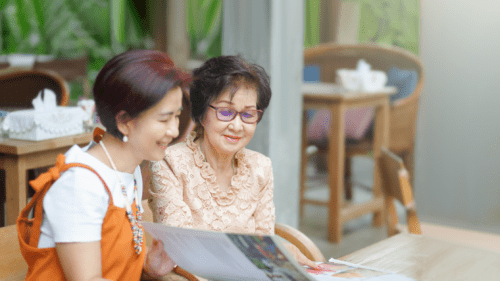
[[[345,106],[342,102],[330,107],[331,123],[328,144],[328,176],[330,199],[328,203],[328,241],[342,241],[342,202],[344,190]]]

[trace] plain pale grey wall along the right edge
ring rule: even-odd
[[[421,1],[421,220],[500,232],[500,1]]]

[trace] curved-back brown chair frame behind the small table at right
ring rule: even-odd
[[[395,69],[400,73],[414,71],[417,81],[414,89],[409,91],[408,85],[400,83],[396,86],[399,99],[393,101],[389,113],[389,149],[400,155],[406,167],[409,169],[410,179],[413,175],[413,153],[415,144],[415,129],[418,112],[420,91],[424,81],[422,64],[418,57],[412,53],[394,46],[382,46],[377,44],[320,44],[304,51],[304,65],[318,66],[320,81],[335,83],[337,69],[356,69],[360,59],[364,59],[371,65],[372,70],[382,70],[392,74]],[[398,73],[396,73],[397,75]],[[392,100],[392,99],[391,99]],[[319,144],[318,148],[323,150]],[[345,175],[346,175],[346,198],[351,198],[350,167],[351,158],[355,155],[367,155],[373,145],[373,136],[367,136],[359,141],[346,142],[345,151]]]

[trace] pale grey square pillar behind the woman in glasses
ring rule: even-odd
[[[273,96],[249,149],[271,158],[276,221],[298,226],[304,1],[225,1],[224,55],[264,67]]]

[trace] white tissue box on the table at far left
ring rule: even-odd
[[[80,107],[58,106],[55,110],[35,109],[13,111],[7,114],[2,128],[9,138],[39,141],[83,133],[83,122],[88,115]]]

